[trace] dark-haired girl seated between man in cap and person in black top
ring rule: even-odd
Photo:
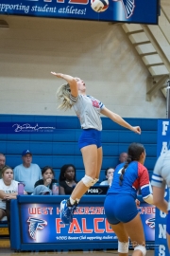
[[[45,166],[42,168],[42,179],[38,180],[34,187],[36,188],[39,185],[44,185],[52,190],[52,184],[57,183],[57,179],[54,179],[55,173],[52,167]]]

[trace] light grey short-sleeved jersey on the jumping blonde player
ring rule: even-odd
[[[105,106],[101,101],[94,99],[92,96],[80,94],[76,98],[71,95],[70,100],[73,103],[82,129],[102,130],[100,111]]]

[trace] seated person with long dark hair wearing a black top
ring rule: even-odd
[[[76,167],[65,164],[59,174],[59,194],[71,194],[76,186]]]

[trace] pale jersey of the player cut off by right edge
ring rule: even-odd
[[[170,195],[170,150],[158,158],[152,174],[151,185],[159,188],[165,188],[167,185]],[[170,210],[170,200],[168,210]]]

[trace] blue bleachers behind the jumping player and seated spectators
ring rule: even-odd
[[[144,144],[146,150],[145,167],[152,174],[157,158],[157,120],[158,119],[126,119],[131,125],[140,125],[142,135],[139,136],[119,126],[110,119],[103,121],[103,164],[100,181],[105,178],[104,170],[115,167],[120,153],[127,151],[131,142]],[[56,127],[54,132],[13,132],[14,123],[36,124],[39,127]],[[33,153],[33,163],[41,168],[50,165],[54,168],[56,178],[63,164],[72,163],[76,166],[76,179],[84,175],[83,161],[77,146],[81,133],[79,120],[76,117],[33,116],[33,115],[0,115],[0,152],[7,158],[7,164],[14,168],[22,163],[23,150]]]

